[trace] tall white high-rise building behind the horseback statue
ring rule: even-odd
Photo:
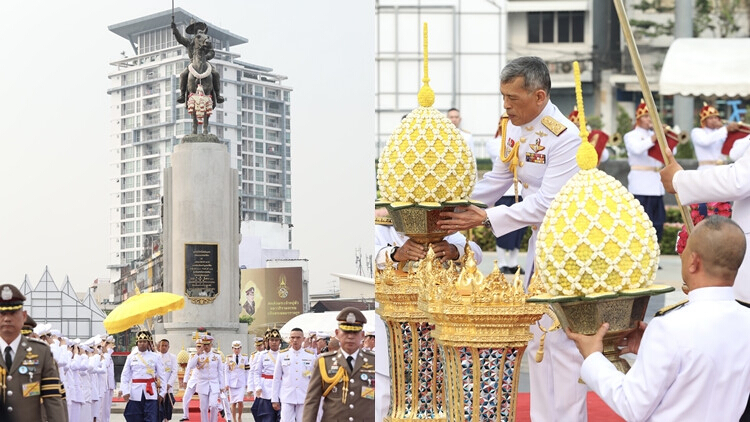
[[[191,20],[205,22],[180,8],[175,22],[184,34]],[[171,11],[111,25],[130,41],[133,54],[112,62],[109,262],[119,269],[147,258],[160,245],[162,171],[172,148],[192,130],[184,104],[177,103],[179,74],[189,63],[187,50],[172,35]],[[291,225],[289,105],[291,88],[273,69],[240,61],[230,47],[247,39],[210,22],[221,75],[219,104],[210,131],[229,151],[240,174],[241,218]],[[131,266],[132,267],[132,266]]]

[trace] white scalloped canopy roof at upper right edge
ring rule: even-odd
[[[678,38],[659,78],[662,95],[750,96],[750,38]]]

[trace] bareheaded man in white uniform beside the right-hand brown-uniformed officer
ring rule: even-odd
[[[281,422],[302,422],[307,385],[315,363],[313,352],[302,348],[304,338],[301,328],[292,328],[289,348],[276,359],[271,403],[275,410],[281,410]]]

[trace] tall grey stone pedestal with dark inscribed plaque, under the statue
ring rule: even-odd
[[[193,344],[205,327],[214,346],[230,353],[234,340],[248,345],[247,324],[239,323],[239,202],[237,170],[221,143],[182,143],[164,170],[164,290],[185,295],[185,307],[164,317],[176,353]]]

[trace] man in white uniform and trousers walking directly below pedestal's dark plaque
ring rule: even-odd
[[[213,340],[210,335],[203,337],[204,353],[195,362],[198,374],[195,391],[201,400],[201,422],[219,420],[219,393],[224,389],[224,364],[221,355],[211,350]]]

